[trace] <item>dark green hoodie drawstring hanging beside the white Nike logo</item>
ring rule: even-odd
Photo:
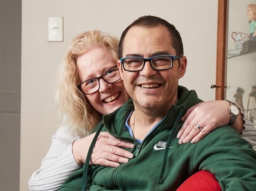
[[[176,118],[176,121],[174,123],[174,126],[173,126],[173,130],[176,129],[176,126],[179,124],[179,122],[182,118],[182,115],[183,115],[183,107],[180,108],[179,114],[178,114],[178,116]],[[158,184],[163,184],[163,175],[165,173],[165,167],[166,167],[166,162],[167,162],[169,146],[171,144],[171,135],[172,135],[172,133],[168,137],[168,140],[167,140],[167,143],[166,143],[166,146],[165,146],[165,151],[163,153],[163,163],[162,163],[161,173],[160,173],[159,178],[158,178]]]

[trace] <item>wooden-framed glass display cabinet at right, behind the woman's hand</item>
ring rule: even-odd
[[[256,0],[219,0],[215,99],[237,102],[256,119],[256,44],[249,51],[242,47],[249,42],[249,4]]]

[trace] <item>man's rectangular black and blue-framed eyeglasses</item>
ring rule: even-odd
[[[121,63],[125,71],[141,71],[148,61],[155,70],[167,70],[173,67],[174,60],[180,63],[181,56],[160,55],[151,58],[127,57],[121,58]]]

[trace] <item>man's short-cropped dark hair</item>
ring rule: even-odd
[[[123,48],[123,42],[124,38],[129,31],[130,28],[133,26],[138,26],[138,27],[144,27],[144,28],[153,28],[157,27],[159,25],[165,26],[171,37],[172,37],[172,46],[176,50],[176,55],[178,56],[183,56],[183,44],[182,44],[182,39],[180,36],[180,33],[177,31],[177,29],[174,27],[174,25],[170,24],[166,20],[159,18],[157,16],[141,16],[137,20],[135,20],[132,24],[130,24],[123,32],[120,38],[119,42],[119,47],[118,47],[118,57],[119,59],[122,58],[122,48]]]

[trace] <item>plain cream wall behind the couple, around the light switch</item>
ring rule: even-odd
[[[22,91],[20,190],[39,168],[60,124],[54,106],[56,67],[68,42],[82,31],[100,29],[120,37],[139,16],[155,15],[174,24],[184,42],[187,72],[180,84],[214,100],[217,0],[22,0]],[[64,17],[64,42],[48,42],[50,16]]]

